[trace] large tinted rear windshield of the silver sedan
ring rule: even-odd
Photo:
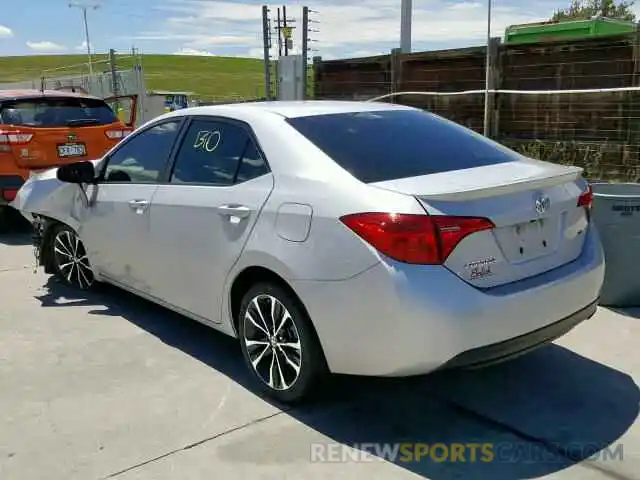
[[[314,115],[287,121],[365,183],[522,158],[472,130],[419,110]]]

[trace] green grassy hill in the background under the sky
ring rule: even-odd
[[[119,69],[132,68],[132,56],[116,57]],[[2,83],[88,73],[86,55],[0,57]],[[264,67],[253,58],[142,55],[149,90],[194,92],[200,99],[247,99],[264,95]],[[109,69],[106,55],[94,56],[94,71]]]

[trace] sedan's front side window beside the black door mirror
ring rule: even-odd
[[[180,120],[155,125],[131,137],[108,158],[106,182],[157,183],[178,136]]]

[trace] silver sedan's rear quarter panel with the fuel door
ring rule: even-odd
[[[379,262],[379,256],[342,224],[341,216],[368,211],[424,213],[409,195],[356,180],[284,119],[257,119],[252,125],[274,174],[274,189],[237,269],[265,261],[289,279],[349,278]],[[309,224],[307,234],[293,240],[284,234],[283,218],[279,218],[282,207],[290,205],[304,208],[285,208],[289,216],[286,223]],[[310,218],[292,218],[297,214]]]

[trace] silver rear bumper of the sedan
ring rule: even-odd
[[[407,376],[479,366],[552,341],[593,315],[603,278],[592,226],[575,261],[489,290],[443,267],[396,262],[344,281],[291,283],[332,372]]]

